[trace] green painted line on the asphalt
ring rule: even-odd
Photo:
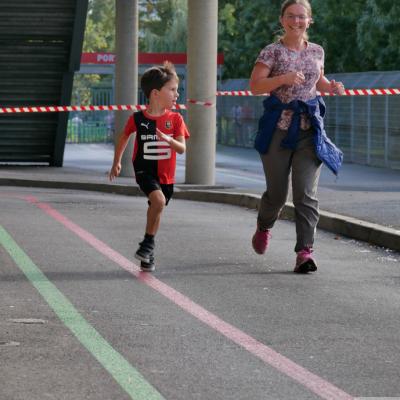
[[[0,244],[58,318],[134,400],[165,400],[129,362],[94,329],[51,283],[0,225]]]

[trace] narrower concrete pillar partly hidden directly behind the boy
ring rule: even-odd
[[[137,104],[138,92],[138,1],[115,1],[115,102]],[[132,111],[117,111],[115,116],[115,138],[122,132]],[[121,176],[133,176],[133,140],[122,157]]]

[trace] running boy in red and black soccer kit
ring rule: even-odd
[[[120,174],[122,154],[129,136],[135,133],[133,168],[149,204],[146,232],[135,257],[141,261],[142,271],[154,271],[154,237],[164,206],[174,192],[176,153],[185,152],[189,132],[182,116],[171,111],[179,96],[179,78],[173,64],[165,62],[163,66],[149,68],[140,84],[149,105],[145,111],[129,117],[115,147],[109,178],[112,181]]]

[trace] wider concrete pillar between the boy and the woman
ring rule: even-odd
[[[188,0],[188,99],[216,103],[218,0]],[[188,104],[186,183],[215,184],[216,107]]]

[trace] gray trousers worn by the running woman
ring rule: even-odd
[[[292,177],[293,204],[295,207],[295,251],[312,247],[319,219],[316,198],[321,161],[314,149],[313,131],[300,131],[297,148],[284,149],[281,141],[287,131],[277,129],[266,154],[261,154],[267,190],[261,197],[257,223],[261,229],[274,226],[285,205]]]

